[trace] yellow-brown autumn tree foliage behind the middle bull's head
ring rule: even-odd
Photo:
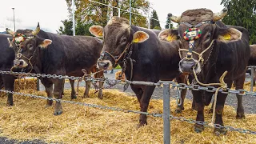
[[[75,6],[75,19],[81,19],[81,22],[90,22],[94,25],[106,26],[106,22],[112,16],[118,16],[118,9],[109,8],[108,6],[119,7],[121,10],[121,17],[127,18],[129,20],[129,13],[124,10],[129,10],[129,1],[123,0],[94,0],[95,2],[90,2],[89,0],[76,0]],[[72,0],[66,0],[68,9],[71,14],[71,2]],[[107,6],[100,5],[96,2],[104,3]],[[133,13],[143,14],[147,13],[150,8],[150,2],[148,0],[131,0],[131,10]],[[135,26],[146,27],[146,17],[138,16],[132,14],[132,24]]]

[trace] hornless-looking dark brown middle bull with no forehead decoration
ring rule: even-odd
[[[186,82],[178,71],[178,43],[161,42],[154,31],[130,26],[126,18],[113,17],[104,28],[91,26],[90,32],[104,38],[99,68],[111,70],[119,64],[131,81],[158,82],[177,78],[178,82]],[[138,98],[141,111],[146,112],[155,86],[131,84],[130,87]],[[183,99],[185,95],[186,90],[182,90]],[[183,105],[177,108],[182,109]],[[139,126],[146,123],[146,115],[141,114]]]

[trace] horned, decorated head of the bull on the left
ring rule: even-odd
[[[38,48],[46,48],[51,44],[51,40],[37,36],[39,31],[39,23],[35,30],[17,30],[14,32],[6,28],[6,32],[13,36],[13,38],[8,38],[8,41],[10,42],[10,47],[15,50],[14,67],[16,69],[26,68],[32,70],[38,54]]]

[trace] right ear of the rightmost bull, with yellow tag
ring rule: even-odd
[[[241,38],[242,38],[242,33],[237,29],[228,28],[228,29],[219,30],[218,41],[234,42],[234,41],[238,41]]]

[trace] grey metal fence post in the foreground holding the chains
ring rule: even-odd
[[[163,83],[163,140],[170,144],[170,83]]]

